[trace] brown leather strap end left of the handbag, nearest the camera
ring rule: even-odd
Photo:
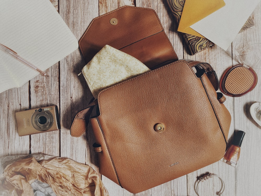
[[[98,105],[98,100],[97,99],[93,100],[93,99],[91,100],[87,108],[78,112],[74,117],[72,126],[70,128],[71,136],[80,137],[82,134],[84,134],[87,125],[89,123],[89,119],[92,114],[93,107],[95,105]]]

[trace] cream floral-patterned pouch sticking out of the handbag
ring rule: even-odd
[[[82,69],[84,78],[97,98],[99,92],[150,69],[133,56],[105,45]]]

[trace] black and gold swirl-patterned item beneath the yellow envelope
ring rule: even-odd
[[[185,0],[167,0],[167,3],[178,25],[180,22]],[[246,30],[249,27],[252,27],[253,25],[254,25],[253,20],[251,17],[249,17],[245,25],[241,28],[240,32]],[[182,33],[182,34],[191,55],[194,55],[204,49],[210,48],[211,46],[215,45],[213,42],[209,41],[208,39],[197,37],[186,33]]]

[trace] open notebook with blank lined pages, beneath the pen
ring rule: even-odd
[[[1,0],[0,43],[42,71],[78,48],[77,39],[49,0]],[[0,93],[21,87],[38,74],[0,50]]]

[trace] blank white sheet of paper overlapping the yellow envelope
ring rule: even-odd
[[[227,50],[260,0],[224,0],[226,5],[191,28]]]

